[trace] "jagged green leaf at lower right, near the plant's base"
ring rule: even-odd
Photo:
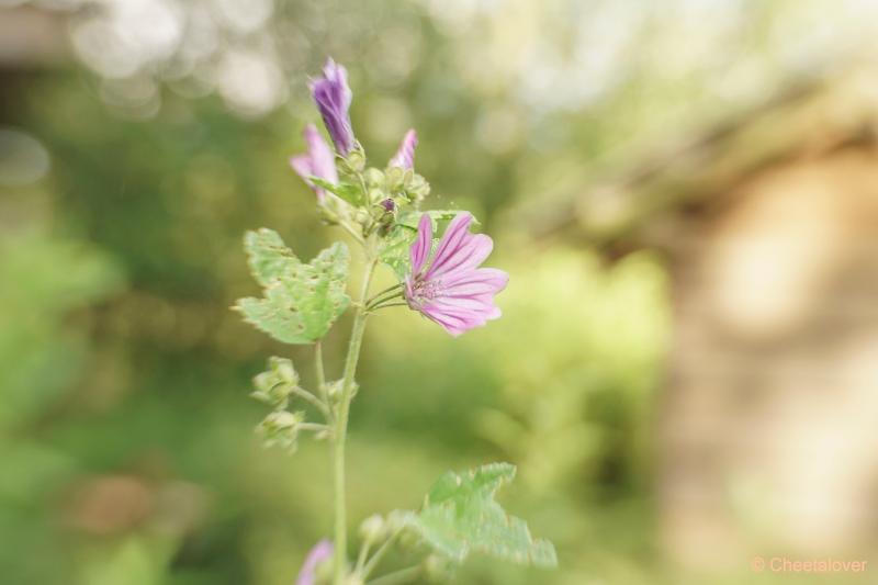
[[[449,472],[432,485],[421,510],[406,516],[406,525],[458,563],[476,551],[518,564],[556,566],[552,543],[534,540],[522,519],[507,515],[494,500],[515,472],[509,463]]]

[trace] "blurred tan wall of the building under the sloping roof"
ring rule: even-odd
[[[878,150],[747,178],[673,261],[664,543],[697,567],[878,541]]]

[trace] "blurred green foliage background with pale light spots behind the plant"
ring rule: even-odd
[[[504,317],[458,340],[405,311],[371,322],[354,525],[507,460],[503,503],[560,569],[474,559],[455,583],[679,583],[655,526],[666,257],[534,236],[534,217],[859,54],[877,19],[855,1],[0,1],[0,582],[289,585],[329,533],[327,447],[263,451],[247,396],[271,355],[311,375],[311,350],[228,307],[256,291],[246,229],[302,257],[338,237],[288,166],[330,55],[373,164],[417,128],[427,205],[472,210],[511,275]]]

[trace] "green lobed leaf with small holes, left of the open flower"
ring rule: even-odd
[[[264,297],[235,305],[246,322],[285,344],[320,339],[350,303],[345,292],[348,249],[336,243],[303,263],[271,229],[248,232],[245,249]]]

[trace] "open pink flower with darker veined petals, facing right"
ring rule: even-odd
[[[496,268],[479,268],[494,248],[484,234],[470,234],[473,216],[454,216],[432,261],[432,223],[424,214],[412,245],[412,273],[405,280],[408,306],[435,320],[454,337],[500,316],[494,295],[506,288],[509,275]],[[429,265],[429,267],[428,267]]]

